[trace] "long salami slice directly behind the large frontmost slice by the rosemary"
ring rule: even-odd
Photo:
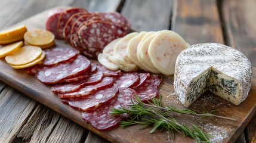
[[[62,102],[67,102],[71,107],[81,111],[88,111],[99,107],[103,103],[107,103],[118,95],[118,86],[113,85],[110,88],[105,88],[95,92],[82,99],[68,98],[61,99]]]

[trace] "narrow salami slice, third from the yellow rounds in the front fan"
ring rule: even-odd
[[[87,79],[82,79],[76,82],[70,83],[61,83],[58,85],[54,85],[51,87],[51,91],[58,92],[61,94],[69,93],[69,92],[76,92],[80,88],[83,88],[87,85],[94,85],[96,83],[101,82],[103,79],[103,74],[101,71],[97,71],[97,73],[91,74]]]

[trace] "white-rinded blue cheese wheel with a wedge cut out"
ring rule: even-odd
[[[251,63],[242,52],[220,43],[200,43],[178,55],[174,91],[186,107],[207,89],[239,105],[248,95],[251,78]]]

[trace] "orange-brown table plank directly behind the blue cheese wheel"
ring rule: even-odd
[[[171,28],[190,45],[224,43],[217,2],[212,0],[174,1]]]

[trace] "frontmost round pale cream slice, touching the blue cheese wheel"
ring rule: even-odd
[[[175,61],[181,51],[188,47],[180,35],[171,30],[162,30],[149,44],[149,57],[161,73],[174,74]]]

